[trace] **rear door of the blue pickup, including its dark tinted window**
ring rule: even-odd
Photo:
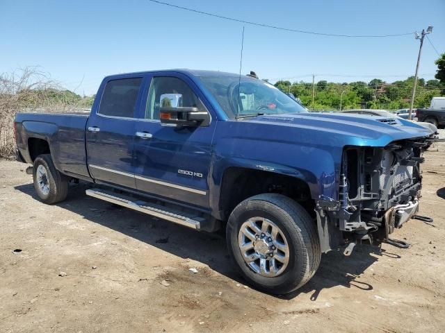
[[[113,77],[102,83],[86,126],[88,169],[92,178],[136,188],[133,135],[143,77]]]

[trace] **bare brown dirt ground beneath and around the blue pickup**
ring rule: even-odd
[[[88,198],[85,184],[44,205],[26,164],[0,161],[0,332],[444,332],[444,164],[445,144],[426,153],[420,213],[435,222],[396,230],[409,249],[328,253],[275,297],[245,286],[218,234]]]

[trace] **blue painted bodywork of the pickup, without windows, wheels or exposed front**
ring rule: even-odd
[[[170,70],[108,76],[99,87],[90,117],[17,114],[17,147],[26,162],[32,162],[29,138],[44,139],[56,168],[63,173],[176,200],[209,210],[220,218],[220,189],[224,173],[231,167],[296,177],[307,183],[312,198],[318,199],[322,194],[338,198],[344,147],[384,147],[430,134],[403,119],[389,125],[378,117],[357,114],[308,112],[232,119],[202,85],[200,77],[206,75],[234,74]],[[184,80],[209,110],[210,125],[175,128],[143,119],[155,76]],[[134,77],[143,78],[134,118],[113,119],[97,114],[108,80]],[[100,131],[86,130],[90,126]],[[152,138],[141,139],[136,132],[150,133]]]

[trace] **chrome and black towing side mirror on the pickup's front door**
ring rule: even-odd
[[[172,108],[161,107],[159,119],[162,124],[174,124],[176,126],[209,126],[210,114],[200,111],[198,108]]]

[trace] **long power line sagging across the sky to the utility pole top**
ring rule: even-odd
[[[318,32],[315,32],[315,31],[305,31],[305,30],[298,30],[298,29],[291,29],[291,28],[283,28],[282,26],[272,26],[270,24],[263,24],[263,23],[258,23],[258,22],[245,21],[243,19],[234,19],[233,17],[227,17],[227,16],[223,16],[223,15],[213,14],[211,12],[203,12],[202,10],[196,10],[196,9],[193,9],[193,8],[177,6],[177,5],[174,5],[172,3],[167,3],[167,2],[158,1],[158,0],[148,0],[148,1],[154,2],[154,3],[158,3],[158,4],[164,5],[164,6],[169,6],[169,7],[173,7],[173,8],[182,9],[182,10],[188,10],[189,12],[195,12],[197,14],[207,15],[207,16],[211,16],[211,17],[218,17],[218,19],[227,19],[227,20],[233,21],[233,22],[239,22],[239,23],[244,23],[244,24],[251,24],[252,26],[262,26],[264,28],[273,28],[273,29],[282,30],[282,31],[290,31],[290,32],[293,32],[293,33],[307,33],[309,35],[321,35],[321,36],[328,36],[328,37],[364,37],[364,38],[369,37],[369,38],[377,38],[377,37],[400,37],[400,36],[412,35],[412,34],[416,33],[416,31],[412,31],[410,33],[397,33],[397,34],[393,34],[393,35],[338,35],[338,34],[334,34],[334,33],[318,33]]]

